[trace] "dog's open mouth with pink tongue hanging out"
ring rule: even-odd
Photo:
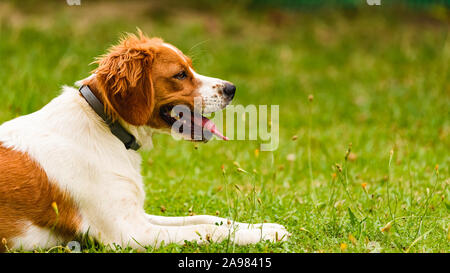
[[[185,108],[189,109],[188,107]],[[191,141],[208,142],[212,135],[220,139],[228,140],[217,128],[214,122],[202,114],[189,110],[178,112],[174,110],[173,105],[165,105],[160,108],[161,119],[172,129]],[[174,125],[176,125],[174,127]]]

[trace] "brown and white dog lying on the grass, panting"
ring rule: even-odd
[[[80,84],[144,149],[151,148],[153,133],[171,132],[173,106],[194,109],[194,99],[201,98],[202,112],[211,113],[226,107],[235,92],[229,82],[195,73],[174,46],[141,32],[127,35],[97,63]],[[0,126],[0,251],[49,248],[86,233],[104,244],[135,248],[221,241],[230,230],[237,244],[289,235],[278,224],[148,215],[140,164],[139,153],[112,134],[76,88],[65,86],[41,110],[5,122]]]

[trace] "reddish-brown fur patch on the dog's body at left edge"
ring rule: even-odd
[[[28,155],[0,143],[0,174],[0,252],[5,240],[11,247],[9,240],[25,232],[26,222],[67,239],[77,234],[81,217],[75,203]]]

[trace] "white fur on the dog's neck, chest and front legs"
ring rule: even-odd
[[[151,128],[124,125],[144,149],[151,148]],[[77,203],[82,217],[79,232],[89,231],[104,244],[141,247],[158,246],[162,241],[220,241],[231,229],[237,229],[231,237],[239,244],[289,235],[277,224],[228,225],[228,220],[213,216],[147,215],[139,153],[126,150],[72,87],[63,87],[62,94],[41,110],[1,125],[0,142],[36,160],[49,179]],[[216,222],[225,224],[217,226]],[[13,247],[47,248],[60,243],[58,238],[49,239],[45,229],[29,223],[25,228],[24,234],[12,239]]]

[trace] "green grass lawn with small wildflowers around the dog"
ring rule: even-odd
[[[276,222],[290,240],[149,252],[449,252],[448,10],[86,2],[1,3],[0,123],[86,77],[136,27],[187,52],[199,73],[234,82],[235,104],[280,105],[274,152],[158,135],[142,172],[148,213]],[[132,250],[85,240],[83,251]]]

